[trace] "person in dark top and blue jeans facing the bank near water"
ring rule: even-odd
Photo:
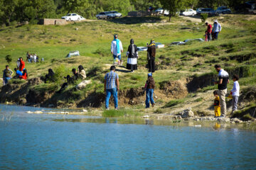
[[[152,77],[152,73],[148,74],[148,79],[146,80],[145,88],[146,89],[146,108],[149,108],[149,101],[151,102],[152,107],[154,108],[155,102],[153,98],[154,94],[154,87],[155,87],[155,82]]]

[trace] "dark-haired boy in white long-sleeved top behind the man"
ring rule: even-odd
[[[239,79],[238,75],[233,76],[234,85],[233,85],[233,89],[230,91],[230,94],[232,94],[232,113],[231,113],[231,115],[234,113],[234,111],[238,110],[238,97],[239,97],[239,90],[240,90],[238,79]]]

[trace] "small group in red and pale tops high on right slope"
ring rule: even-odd
[[[218,40],[218,34],[221,31],[221,25],[218,23],[217,20],[214,21],[213,27],[210,25],[210,23],[206,23],[207,30],[205,36],[206,41],[210,40]]]

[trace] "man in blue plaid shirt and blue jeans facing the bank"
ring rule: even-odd
[[[104,78],[104,91],[106,91],[105,106],[107,109],[109,109],[109,101],[111,95],[114,98],[114,108],[118,109],[117,91],[119,90],[119,77],[114,71],[115,67],[111,66],[110,72],[108,72]]]

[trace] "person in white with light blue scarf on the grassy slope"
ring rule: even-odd
[[[121,52],[123,52],[122,42],[118,39],[118,35],[114,35],[114,40],[112,40],[111,43],[111,53],[114,57],[114,60],[118,58],[118,60],[121,60]]]

